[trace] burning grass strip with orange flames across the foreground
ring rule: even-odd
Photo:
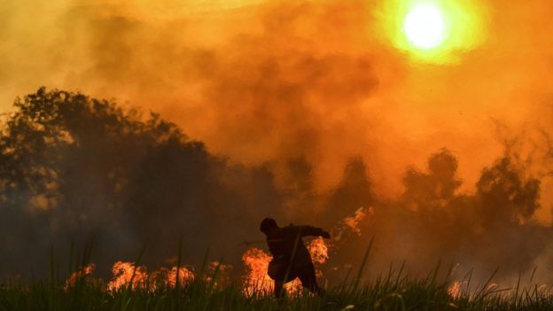
[[[358,223],[372,214],[360,208],[332,229],[331,240],[314,238],[307,244],[317,276],[329,254],[343,237],[359,234]],[[181,266],[182,245],[171,268],[149,271],[136,262],[116,261],[112,276],[93,276],[96,265],[86,263],[65,279],[51,265],[47,281],[28,280],[0,284],[0,311],[4,310],[552,310],[551,286],[530,283],[504,288],[493,281],[471,284],[471,274],[462,280],[444,279],[436,268],[428,276],[416,278],[401,271],[363,277],[370,253],[367,249],[353,278],[342,284],[325,284],[327,294],[317,297],[304,291],[298,280],[286,286],[286,298],[274,299],[273,282],[267,276],[271,256],[259,248],[248,249],[242,257],[245,275],[230,277],[232,266],[221,261],[205,261],[200,272]],[[207,257],[207,255],[206,255]],[[53,258],[53,257],[52,257]],[[452,276],[455,268],[446,276]],[[349,275],[348,275],[349,276]],[[440,277],[439,277],[440,276]],[[534,273],[533,273],[534,276]]]

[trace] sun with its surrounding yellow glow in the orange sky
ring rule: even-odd
[[[375,8],[374,33],[409,62],[455,64],[487,40],[481,0],[386,0]]]

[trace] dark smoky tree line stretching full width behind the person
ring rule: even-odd
[[[482,170],[472,193],[458,190],[459,163],[447,149],[425,170],[406,169],[399,198],[379,198],[359,158],[320,192],[303,157],[284,168],[232,164],[155,113],[39,89],[16,101],[0,140],[0,274],[43,275],[52,250],[64,265],[72,244],[90,241],[104,275],[144,244],[144,263],[163,265],[180,240],[185,263],[198,266],[209,248],[212,259],[240,267],[241,242],[262,237],[267,215],[330,228],[364,206],[372,212],[361,236],[341,241],[323,266],[333,281],[359,264],[371,237],[373,272],[407,260],[409,273],[425,273],[441,260],[509,278],[549,260],[551,234],[535,218],[541,182],[514,149]]]

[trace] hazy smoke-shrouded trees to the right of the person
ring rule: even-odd
[[[390,264],[399,269],[405,260],[408,273],[424,275],[441,262],[445,270],[459,266],[453,277],[473,269],[473,279],[481,281],[499,269],[495,280],[512,282],[550,261],[551,227],[536,219],[540,180],[505,156],[482,170],[474,193],[460,193],[457,166],[456,157],[443,149],[431,155],[426,171],[408,167],[401,197],[373,201],[362,237],[334,264],[343,265],[340,260],[353,253],[357,261],[348,263],[358,264],[370,236],[375,273]],[[540,282],[550,282],[549,267],[537,268]]]

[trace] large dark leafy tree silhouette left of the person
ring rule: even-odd
[[[147,258],[167,259],[181,237],[185,260],[209,246],[229,255],[279,214],[268,169],[230,166],[156,113],[44,88],[14,106],[0,136],[0,248],[16,267],[0,269],[90,237],[105,268],[146,242]]]

